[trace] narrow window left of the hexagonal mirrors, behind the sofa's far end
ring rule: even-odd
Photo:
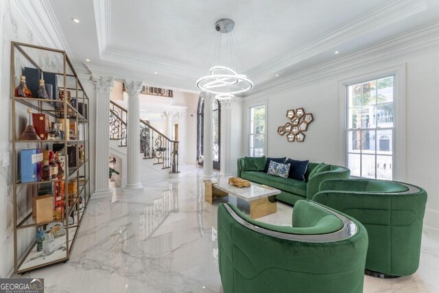
[[[265,155],[265,105],[250,108],[250,156]]]

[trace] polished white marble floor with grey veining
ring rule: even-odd
[[[196,167],[182,167],[180,175],[179,180],[149,184],[141,194],[119,191],[91,200],[71,259],[23,277],[44,278],[46,293],[222,292],[218,202],[204,202]],[[291,207],[278,202],[277,213],[259,220],[286,225],[291,214]],[[364,292],[439,292],[438,239],[424,233],[416,274],[366,276]]]

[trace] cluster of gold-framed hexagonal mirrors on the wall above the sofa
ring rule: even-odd
[[[284,126],[277,128],[277,133],[280,135],[287,134],[287,141],[292,143],[297,141],[302,143],[305,140],[305,131],[308,129],[308,125],[313,121],[313,115],[311,113],[305,113],[303,108],[297,108],[294,110],[287,110],[287,122]]]

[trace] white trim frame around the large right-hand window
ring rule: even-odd
[[[342,163],[346,166],[346,124],[347,124],[347,103],[346,103],[346,86],[365,80],[372,80],[382,78],[385,76],[394,75],[394,95],[396,99],[393,100],[395,119],[394,119],[394,167],[393,179],[398,181],[405,181],[406,170],[406,156],[405,156],[405,63],[393,66],[383,66],[381,68],[374,68],[368,71],[362,71],[351,78],[344,78],[338,82],[338,94],[340,104],[340,121],[339,121],[339,138],[344,143],[340,145],[340,158]]]

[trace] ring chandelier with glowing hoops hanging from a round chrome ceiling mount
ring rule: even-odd
[[[230,19],[219,19],[215,23],[215,30],[221,34],[232,32],[234,27],[235,23]],[[218,44],[219,41],[215,43]],[[230,44],[233,44],[233,37],[230,37]],[[219,48],[217,50],[219,51]],[[227,42],[225,53],[233,55],[233,51],[234,49],[229,48]],[[236,60],[236,58],[231,57],[227,60]],[[201,91],[215,94],[215,99],[233,99],[236,94],[245,93],[253,88],[252,81],[246,75],[239,74],[230,67],[216,65],[210,69],[209,74],[197,80],[196,84]]]

